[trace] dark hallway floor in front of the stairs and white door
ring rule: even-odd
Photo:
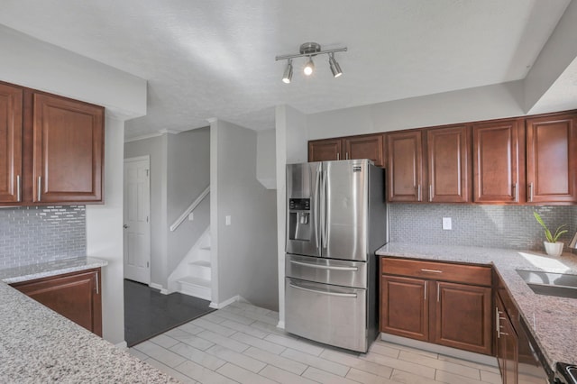
[[[158,289],[124,279],[124,339],[129,347],[142,343],[214,311],[209,304],[178,292],[162,295]]]

